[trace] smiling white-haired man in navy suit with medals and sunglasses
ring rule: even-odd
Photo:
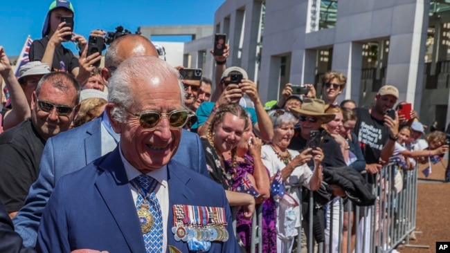
[[[37,251],[240,252],[224,189],[172,159],[190,115],[183,93],[159,58],[120,64],[105,109],[118,147],[57,182]]]

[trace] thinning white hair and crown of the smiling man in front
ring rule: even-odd
[[[116,104],[111,110],[114,120],[127,122],[125,109],[129,109],[134,103],[131,86],[134,82],[148,82],[154,76],[163,79],[177,78],[181,91],[180,102],[184,106],[185,92],[178,71],[158,57],[135,56],[122,62],[109,79],[108,102]]]

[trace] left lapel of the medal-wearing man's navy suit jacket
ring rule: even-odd
[[[141,225],[136,214],[136,207],[129,189],[129,183],[118,147],[105,159],[99,160],[105,171],[98,176],[96,187],[105,201],[111,215],[114,216],[120,231],[131,252],[145,252]],[[113,184],[113,185],[111,185]]]

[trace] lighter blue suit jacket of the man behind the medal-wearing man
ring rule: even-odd
[[[47,140],[39,176],[30,187],[24,207],[12,220],[16,232],[24,238],[25,246],[36,244],[37,227],[56,182],[102,156],[101,124],[102,118],[97,118]],[[209,178],[203,147],[196,133],[183,130],[179,148],[172,159]]]

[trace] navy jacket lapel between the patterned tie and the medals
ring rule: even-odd
[[[185,204],[189,205],[192,199],[195,199],[193,192],[187,187],[187,184],[190,180],[190,176],[185,174],[183,169],[187,169],[186,167],[177,167],[174,163],[168,163],[168,187],[169,187],[169,214],[168,214],[168,229],[167,229],[167,238],[168,245],[172,245],[177,247],[178,249],[183,249],[187,244],[183,243],[183,241],[175,241],[174,234],[172,233],[172,227],[174,226],[173,222],[173,205]]]

